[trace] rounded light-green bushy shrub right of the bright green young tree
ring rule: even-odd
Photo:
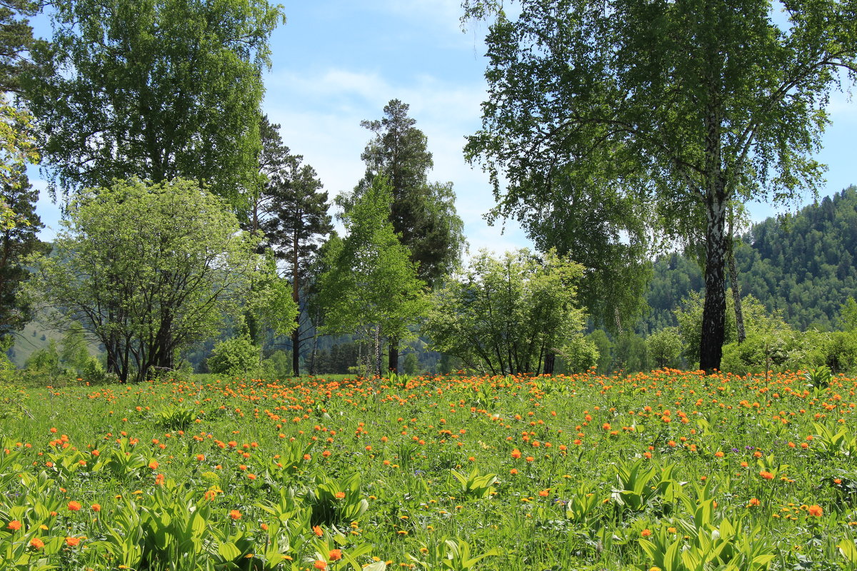
[[[434,292],[423,332],[441,352],[492,374],[538,372],[548,352],[573,360],[584,342],[575,287],[582,273],[554,251],[495,259],[482,250]]]

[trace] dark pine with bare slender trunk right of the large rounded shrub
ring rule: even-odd
[[[292,369],[300,373],[301,342],[307,335],[309,309],[306,296],[309,294],[309,268],[318,253],[321,239],[333,230],[331,217],[327,214],[329,203],[327,192],[321,190],[321,181],[309,164],[302,164],[303,157],[290,155],[283,145],[277,130],[279,125],[263,122],[267,131],[265,152],[269,167],[267,183],[262,192],[268,217],[260,224],[265,240],[273,247],[279,259],[284,259],[291,270],[291,299],[305,311],[295,317],[295,329],[291,332]]]

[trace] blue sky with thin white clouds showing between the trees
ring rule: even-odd
[[[285,25],[271,38],[272,67],[264,76],[263,111],[280,124],[291,152],[303,155],[333,198],[363,176],[360,153],[370,139],[363,120],[381,119],[384,105],[398,98],[428,138],[434,155],[432,181],[452,181],[458,215],[470,252],[531,247],[514,221],[493,227],[484,215],[494,205],[488,175],[464,161],[464,138],[481,125],[486,98],[485,26],[462,32],[460,0],[286,0]],[[33,21],[36,35],[50,36],[45,15]],[[820,162],[828,164],[821,195],[857,184],[853,141],[857,103],[833,93],[832,124],[824,134]],[[31,169],[33,185],[39,170]],[[804,204],[808,203],[805,201]],[[50,240],[59,207],[41,193],[37,211]],[[776,214],[750,205],[754,221]]]

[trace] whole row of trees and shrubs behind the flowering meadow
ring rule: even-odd
[[[539,253],[464,268],[452,183],[428,180],[399,100],[362,123],[366,174],[335,199],[333,232],[317,173],[260,110],[279,6],[59,0],[36,41],[26,17],[42,6],[4,3],[3,338],[50,306],[128,380],[224,328],[236,354],[288,335],[295,374],[304,343],[357,334],[381,373],[423,328],[486,372],[551,372],[597,358],[580,310],[614,338],[632,331],[651,254],[680,241],[704,279],[684,342],[720,367],[734,221],[747,199],[818,186],[827,94],[857,70],[854,7],[789,3],[782,23],[763,0],[519,4],[512,21],[502,3],[464,2],[465,21],[490,21],[482,129],[464,152],[494,184],[490,216],[517,217]],[[24,165],[37,160],[67,213],[53,253],[35,240]],[[817,270],[834,266],[847,270],[844,253]]]

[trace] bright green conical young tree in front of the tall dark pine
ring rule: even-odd
[[[373,342],[372,368],[381,375],[381,339],[400,339],[423,313],[424,283],[390,223],[393,191],[379,176],[342,216],[347,235],[325,247],[319,278],[327,307],[323,330]]]

